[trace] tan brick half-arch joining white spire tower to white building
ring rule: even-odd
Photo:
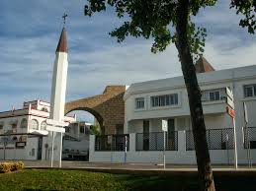
[[[115,134],[116,127],[125,122],[125,91],[126,86],[107,86],[102,95],[67,102],[65,114],[73,110],[88,111],[98,120],[103,134]]]

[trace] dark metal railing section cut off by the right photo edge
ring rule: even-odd
[[[243,128],[244,149],[256,149],[256,127]]]

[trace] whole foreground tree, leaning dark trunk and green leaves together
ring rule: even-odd
[[[192,129],[198,163],[201,190],[214,190],[213,171],[206,139],[206,125],[193,58],[204,52],[205,28],[196,27],[192,17],[201,8],[214,6],[217,0],[88,0],[84,14],[92,16],[105,11],[107,6],[115,8],[117,16],[127,22],[110,32],[122,42],[128,35],[153,38],[151,51],[164,51],[170,43],[175,43],[185,85],[188,92]],[[255,31],[255,0],[230,0],[230,8],[244,16],[240,26]]]

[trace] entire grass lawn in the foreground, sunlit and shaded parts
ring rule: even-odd
[[[256,190],[256,178],[215,177],[217,190]],[[0,174],[0,190],[198,190],[195,175],[130,175],[84,170],[25,169]]]

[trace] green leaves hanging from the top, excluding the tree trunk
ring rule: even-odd
[[[114,7],[119,18],[128,18],[128,21],[110,32],[122,42],[128,35],[144,38],[153,38],[151,51],[164,51],[172,42],[176,43],[177,6],[180,0],[88,0],[84,14],[92,16],[96,12],[105,11],[107,6]],[[190,16],[188,23],[188,39],[190,50],[196,56],[204,52],[207,31],[196,27],[191,17],[197,16],[201,8],[214,6],[217,0],[190,0]],[[236,8],[237,14],[244,15],[240,26],[248,28],[248,32],[256,30],[255,0],[231,0],[230,8]],[[126,16],[126,17],[125,17]]]

